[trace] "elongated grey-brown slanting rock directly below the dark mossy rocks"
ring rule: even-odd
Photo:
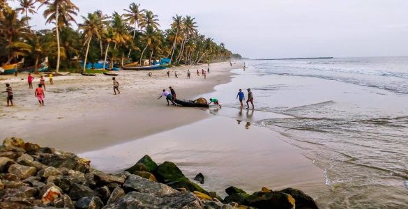
[[[136,191],[149,194],[163,195],[177,193],[175,189],[172,189],[167,185],[156,183],[136,175],[129,176],[126,182],[123,184],[123,188],[127,191]]]

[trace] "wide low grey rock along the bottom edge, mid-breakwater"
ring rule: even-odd
[[[204,204],[197,196],[190,192],[176,192],[173,194],[155,196],[153,194],[130,192],[110,203],[106,208],[204,208]]]

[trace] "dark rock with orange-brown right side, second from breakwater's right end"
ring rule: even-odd
[[[255,192],[245,199],[244,205],[259,209],[292,209],[295,206],[295,200],[290,194],[285,194],[282,192]]]

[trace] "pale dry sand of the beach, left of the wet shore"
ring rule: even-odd
[[[0,86],[10,83],[15,99],[14,107],[0,106],[0,139],[21,137],[41,146],[81,153],[186,125],[209,115],[196,109],[167,107],[165,98],[157,100],[163,88],[172,86],[178,98],[191,100],[229,82],[229,70],[237,67],[212,63],[206,79],[201,70],[197,76],[196,70],[206,70],[207,65],[169,68],[170,78],[167,70],[121,71],[116,77],[120,95],[113,95],[112,77],[106,75],[55,77],[53,86],[46,82],[45,107],[39,107],[33,89],[28,89],[27,73],[20,73],[19,78],[0,76],[5,79]],[[187,79],[188,69],[191,79]],[[179,78],[174,77],[174,71]],[[38,82],[34,79],[34,86]],[[2,102],[5,95],[0,98]]]

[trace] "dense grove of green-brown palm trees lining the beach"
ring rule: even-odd
[[[56,72],[60,68],[75,72],[85,69],[80,61],[105,61],[113,68],[123,63],[142,63],[144,59],[150,63],[169,58],[173,66],[178,66],[227,61],[232,57],[223,43],[218,45],[199,33],[194,17],[175,15],[169,29],[163,31],[158,15],[131,3],[123,14],[96,10],[82,16],[82,22],[77,24],[75,17],[80,8],[73,0],[18,1],[17,8],[10,8],[8,0],[0,0],[2,65],[24,58],[27,67],[48,57]],[[47,24],[54,28],[35,31],[29,25],[30,15],[42,7]],[[75,25],[77,29],[72,29]]]

